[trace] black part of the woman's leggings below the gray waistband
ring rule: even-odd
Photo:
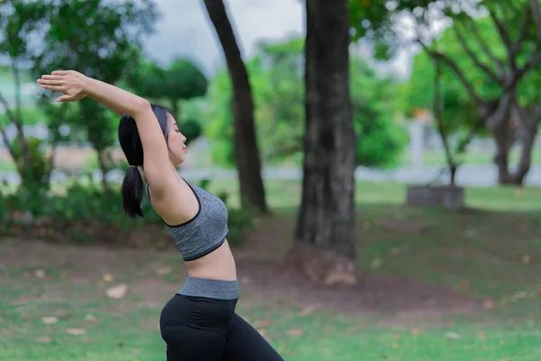
[[[284,361],[234,310],[237,300],[176,294],[160,315],[168,361]]]

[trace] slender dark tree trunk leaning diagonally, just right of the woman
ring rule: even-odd
[[[261,179],[261,160],[253,120],[252,88],[244,67],[234,30],[223,0],[205,0],[206,12],[225,54],[233,84],[234,156],[243,205],[250,204],[267,212],[265,189]]]

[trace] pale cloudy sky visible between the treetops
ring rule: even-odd
[[[146,37],[143,48],[152,60],[167,66],[175,57],[195,60],[206,74],[224,64],[223,52],[202,0],[155,0],[162,12],[156,32]],[[304,35],[304,7],[299,0],[225,0],[230,21],[244,60],[258,42],[280,41]],[[366,55],[366,51],[361,52]],[[382,71],[406,76],[410,51],[381,66]]]

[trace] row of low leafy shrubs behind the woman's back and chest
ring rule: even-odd
[[[200,183],[208,188],[210,181]],[[91,177],[79,177],[67,184],[66,188],[52,187],[41,197],[23,191],[0,194],[0,236],[16,236],[23,232],[31,236],[68,237],[84,240],[85,243],[104,242],[107,238],[115,243],[138,232],[144,227],[160,227],[164,229],[160,217],[151,208],[146,197],[142,200],[144,218],[132,219],[124,215],[120,186],[113,187],[108,196],[100,183]],[[3,185],[7,190],[7,185]],[[229,235],[231,245],[241,245],[244,232],[253,226],[253,213],[231,206],[230,195],[226,192],[216,194],[229,209]],[[43,227],[48,230],[44,231]],[[93,236],[92,236],[93,235]],[[100,239],[98,239],[100,238]],[[69,241],[69,239],[67,239]]]

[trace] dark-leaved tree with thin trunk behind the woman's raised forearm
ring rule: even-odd
[[[49,28],[44,33],[42,50],[34,57],[34,74],[77,69],[94,79],[115,84],[139,58],[142,35],[151,34],[159,14],[148,1],[136,5],[124,0],[113,5],[104,0],[60,0],[51,2],[48,16]],[[118,117],[85,98],[78,103],[78,116],[71,119],[77,122],[72,126],[86,130],[88,141],[98,154],[108,195],[106,174],[111,159],[107,150],[115,143]]]

